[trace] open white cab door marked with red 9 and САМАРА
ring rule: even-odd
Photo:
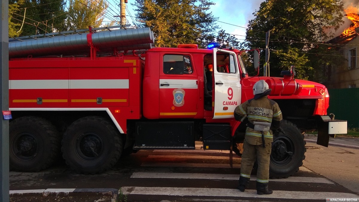
[[[234,109],[241,104],[241,77],[236,54],[213,49],[213,72],[213,119],[234,118]]]

